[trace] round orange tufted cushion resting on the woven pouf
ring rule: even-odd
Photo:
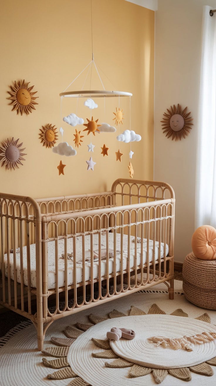
[[[202,225],[195,230],[192,240],[192,249],[198,259],[216,259],[216,229],[210,225]]]

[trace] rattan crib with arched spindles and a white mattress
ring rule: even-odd
[[[129,179],[94,194],[0,193],[0,305],[32,320],[42,350],[55,319],[162,282],[173,299],[174,206],[168,184]]]

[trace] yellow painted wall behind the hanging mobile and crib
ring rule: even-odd
[[[94,59],[117,90],[130,91],[131,129],[142,135],[132,143],[134,178],[153,176],[153,97],[154,97],[154,12],[124,0],[92,0]],[[74,146],[75,128],[60,119],[59,93],[90,62],[90,0],[7,0],[1,4],[0,61],[0,141],[12,136],[23,142],[27,156],[15,171],[0,168],[0,191],[34,198],[109,190],[116,178],[128,178],[130,144],[121,143],[122,163],[116,162],[116,133],[106,134],[109,156],[100,154],[104,134],[92,136],[94,153],[87,151],[90,135],[85,137],[77,156],[54,154],[42,146],[39,129],[47,123],[64,129],[64,141]],[[99,70],[100,71],[100,70]],[[85,73],[86,74],[86,73]],[[105,88],[113,86],[102,75]],[[82,88],[85,76],[74,83]],[[6,99],[9,85],[25,79],[38,91],[36,110],[30,115],[17,115]],[[89,78],[85,88],[89,88]],[[88,87],[87,87],[88,86]],[[92,88],[101,89],[92,72]],[[76,112],[74,98],[64,98],[62,116]],[[95,100],[94,119],[104,122],[104,100]],[[90,110],[78,100],[77,115],[90,118]],[[113,125],[113,111],[118,98],[105,104],[106,122]],[[120,99],[124,125],[129,129],[129,98]],[[79,126],[79,130],[84,129]],[[117,129],[119,134],[119,129]],[[59,136],[59,141],[60,141]],[[87,171],[86,160],[97,163],[94,172]],[[65,175],[59,176],[57,165],[62,159]]]

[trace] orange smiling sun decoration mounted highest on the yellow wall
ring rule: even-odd
[[[14,85],[10,85],[11,91],[8,91],[10,94],[10,105],[13,105],[12,111],[17,110],[17,114],[26,113],[27,115],[32,112],[32,109],[35,110],[34,105],[38,105],[35,102],[35,99],[38,97],[33,97],[37,91],[32,93],[34,86],[28,87],[30,82],[25,82],[25,80],[16,81]]]

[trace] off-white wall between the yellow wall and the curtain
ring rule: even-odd
[[[177,262],[183,262],[191,251],[194,232],[203,5],[215,9],[216,0],[158,0],[155,19],[154,179],[166,181],[176,193],[174,252]],[[194,126],[186,139],[175,142],[163,134],[160,121],[166,109],[177,103],[188,106]]]

